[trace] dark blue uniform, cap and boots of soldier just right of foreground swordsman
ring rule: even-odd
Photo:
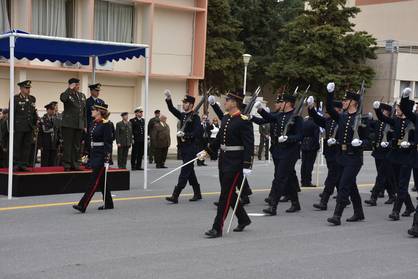
[[[283,94],[280,101],[291,102],[295,104],[296,97]],[[286,188],[290,195],[292,206],[286,212],[300,211],[298,192],[293,183],[288,183],[288,180],[292,180],[291,173],[295,172],[295,165],[298,159],[301,159],[301,153],[299,150],[299,143],[302,140],[303,133],[303,119],[302,117],[296,117],[294,124],[290,126],[286,136],[288,137],[285,142],[279,142],[278,138],[282,135],[285,125],[292,116],[294,109],[288,112],[278,112],[275,116],[269,114],[264,109],[261,110],[260,115],[271,122],[277,123],[275,137],[274,137],[274,153],[273,157],[277,159],[277,168],[275,177],[275,195],[271,199],[270,207],[263,210],[263,212],[275,215],[278,200],[281,193]]]

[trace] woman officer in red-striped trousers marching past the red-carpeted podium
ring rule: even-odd
[[[87,185],[86,193],[77,205],[73,205],[73,208],[84,213],[86,212],[87,205],[93,197],[94,191],[97,186],[102,191],[103,198],[106,197],[104,206],[100,206],[98,209],[112,209],[113,200],[110,194],[109,188],[106,188],[106,195],[104,194],[104,176],[109,163],[112,160],[112,125],[109,120],[104,117],[109,117],[110,112],[107,111],[107,104],[96,103],[92,109],[92,117],[94,121],[90,125],[90,149],[86,151],[86,157],[90,160],[92,166],[92,176],[90,182]],[[88,144],[86,142],[86,144]],[[84,159],[85,160],[85,159]]]

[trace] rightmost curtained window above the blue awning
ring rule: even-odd
[[[133,43],[133,4],[94,1],[93,39],[120,43]]]

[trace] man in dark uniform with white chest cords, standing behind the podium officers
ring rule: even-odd
[[[41,167],[54,167],[56,150],[61,143],[61,127],[59,118],[55,117],[55,104],[45,106],[47,114],[41,117],[38,133],[38,148],[41,150]]]

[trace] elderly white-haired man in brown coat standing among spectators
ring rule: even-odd
[[[155,124],[153,131],[153,144],[155,146],[154,160],[156,164],[155,167],[158,169],[167,168],[164,164],[166,163],[168,147],[171,144],[171,139],[170,127],[168,127],[166,122],[167,116],[165,114],[161,114],[160,122]]]

